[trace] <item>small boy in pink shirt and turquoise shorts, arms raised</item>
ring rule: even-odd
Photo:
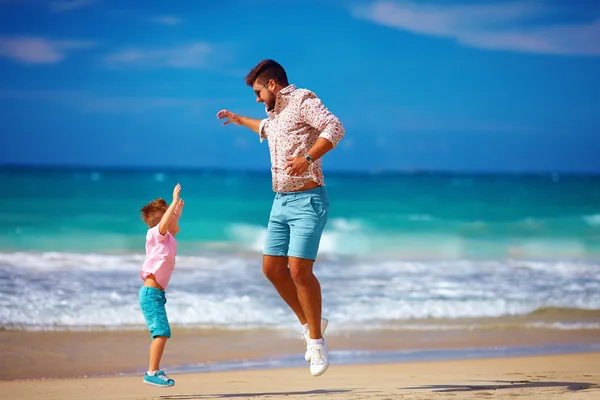
[[[167,319],[165,289],[175,268],[179,217],[183,210],[183,200],[179,198],[181,185],[173,189],[173,201],[158,198],[146,204],[140,212],[148,225],[146,234],[146,260],[140,271],[144,285],[140,288],[139,301],[144,319],[150,330],[150,363],[144,375],[144,383],[159,387],[170,387],[175,381],[160,368],[167,339],[171,337],[171,327]]]

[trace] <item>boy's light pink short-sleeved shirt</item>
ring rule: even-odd
[[[148,233],[146,233],[146,260],[140,271],[142,279],[146,280],[148,275],[154,274],[156,282],[166,290],[175,269],[176,252],[177,241],[173,235],[169,232],[161,235],[158,231],[158,225],[148,229]]]

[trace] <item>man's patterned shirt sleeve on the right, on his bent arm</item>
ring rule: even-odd
[[[304,121],[317,129],[320,132],[319,137],[327,139],[333,147],[336,147],[346,134],[346,129],[340,120],[325,107],[321,99],[314,93],[304,99],[301,112]]]

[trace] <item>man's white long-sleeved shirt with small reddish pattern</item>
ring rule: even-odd
[[[340,120],[310,90],[289,85],[277,93],[269,118],[260,123],[260,141],[268,140],[271,153],[273,191],[293,192],[308,182],[325,185],[321,158],[310,164],[300,176],[285,171],[288,157],[304,156],[317,139],[327,139],[333,147],[346,133]]]

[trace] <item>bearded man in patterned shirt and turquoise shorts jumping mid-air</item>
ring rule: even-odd
[[[223,125],[234,123],[267,139],[275,199],[267,225],[263,272],[303,325],[306,361],[313,376],[329,367],[321,319],[321,285],[313,274],[321,234],[329,213],[321,157],[342,139],[344,127],[311,91],[288,83],[283,67],[263,60],[246,76],[268,118],[259,120],[227,110]]]

